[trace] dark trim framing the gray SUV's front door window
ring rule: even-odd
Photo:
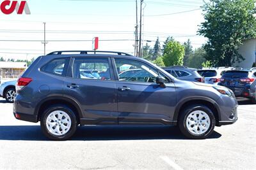
[[[115,81],[122,82],[122,83],[147,83],[147,84],[152,84],[152,83],[150,83],[150,82],[142,82],[142,81],[120,81],[119,78],[118,78],[118,74],[117,74],[117,67],[116,67],[115,59],[119,59],[119,60],[131,60],[131,61],[135,61],[135,62],[141,62],[141,63],[145,64],[146,66],[149,66],[149,67],[154,68],[154,70],[157,71],[157,74],[158,74],[159,76],[160,76],[160,73],[163,74],[164,76],[166,76],[166,79],[168,80],[168,82],[166,82],[166,83],[174,83],[174,81],[172,80],[172,78],[170,78],[169,76],[167,76],[166,74],[164,74],[163,72],[161,72],[159,69],[157,69],[156,67],[152,66],[151,64],[148,64],[147,62],[145,62],[145,61],[143,61],[143,60],[111,57],[111,62],[112,62],[112,64],[113,64],[113,71],[114,71]]]

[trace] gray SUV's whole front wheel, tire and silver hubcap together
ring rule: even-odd
[[[215,121],[214,114],[207,106],[193,105],[182,111],[179,128],[190,139],[205,139],[212,134]]]

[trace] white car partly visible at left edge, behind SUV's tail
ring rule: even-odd
[[[8,103],[13,103],[16,97],[15,81],[6,81],[0,85],[0,97],[3,97]]]

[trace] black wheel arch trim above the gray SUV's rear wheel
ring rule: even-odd
[[[50,97],[46,97],[45,99],[43,99],[36,105],[35,115],[37,117],[37,120],[39,120],[38,115],[40,114],[39,110],[40,110],[40,107],[42,106],[42,104],[46,103],[47,101],[54,101],[54,100],[65,101],[67,103],[72,104],[78,111],[79,118],[83,118],[83,111],[81,110],[80,105],[76,101],[76,99],[74,99],[73,97],[70,97],[70,96],[50,96]]]

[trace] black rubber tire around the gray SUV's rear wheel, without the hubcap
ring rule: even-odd
[[[46,127],[46,120],[47,120],[47,117],[53,112],[53,111],[57,111],[57,110],[60,110],[60,111],[65,111],[65,113],[68,114],[68,116],[70,117],[71,119],[71,127],[70,129],[68,130],[67,133],[61,135],[61,136],[57,136],[57,135],[54,135],[52,134]],[[49,138],[49,139],[52,139],[52,140],[56,140],[56,141],[65,141],[69,138],[71,138],[71,136],[73,136],[73,134],[76,132],[76,129],[77,129],[77,118],[76,118],[76,115],[74,113],[74,111],[72,111],[70,108],[68,108],[67,106],[65,105],[52,105],[50,106],[49,108],[47,108],[47,110],[44,111],[44,113],[42,114],[42,117],[40,119],[40,125],[41,125],[41,129],[42,129],[42,132],[44,133],[44,135]]]

